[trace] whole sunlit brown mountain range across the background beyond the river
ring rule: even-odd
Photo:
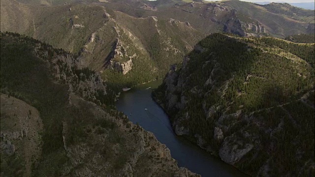
[[[116,92],[163,78],[213,32],[285,37],[315,29],[314,11],[239,0],[2,0],[0,7],[1,31],[84,57],[81,65],[100,72]]]

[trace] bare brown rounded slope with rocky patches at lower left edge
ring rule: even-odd
[[[32,163],[41,155],[43,130],[39,112],[26,102],[1,93],[1,168],[3,164],[22,159],[22,173],[31,176]],[[8,157],[10,156],[10,157]],[[2,164],[3,162],[3,164]]]

